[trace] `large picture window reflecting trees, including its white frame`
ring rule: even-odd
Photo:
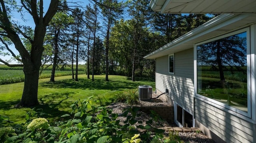
[[[218,37],[214,41],[196,45],[198,96],[206,97],[206,100],[210,98],[219,105],[248,115],[250,110],[249,40],[249,28],[246,28]]]

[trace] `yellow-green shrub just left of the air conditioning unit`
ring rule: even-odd
[[[135,105],[139,103],[138,90],[124,91],[117,96],[117,102],[128,103],[129,105]]]

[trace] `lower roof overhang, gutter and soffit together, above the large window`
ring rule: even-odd
[[[194,47],[195,43],[205,41],[236,29],[256,24],[256,14],[221,14],[196,29],[182,35],[156,51],[146,55],[145,59],[156,59]]]

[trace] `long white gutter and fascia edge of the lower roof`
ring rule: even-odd
[[[248,16],[249,16],[248,14],[240,14],[240,15],[222,14],[222,15],[204,23],[203,25],[197,27],[196,29],[182,35],[181,37],[175,39],[174,41],[164,45],[163,47],[157,49],[156,51],[146,55],[143,58],[150,59],[150,56],[152,56],[154,54],[157,54],[166,49],[172,49],[178,45],[181,45],[181,44],[186,43],[192,39],[195,39],[196,37],[200,37],[202,35],[210,33],[211,31],[214,31],[216,29],[224,27],[224,26],[231,24],[233,22],[236,22],[238,20],[242,20]]]

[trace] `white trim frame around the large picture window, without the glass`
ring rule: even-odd
[[[238,34],[238,33],[242,33],[242,32],[246,32],[246,37],[247,37],[247,109],[248,109],[248,112],[244,112],[242,110],[239,110],[237,108],[234,108],[234,107],[231,107],[231,106],[228,106],[226,104],[223,104],[221,102],[218,102],[216,100],[213,100],[213,99],[210,99],[210,98],[207,98],[205,96],[202,96],[200,94],[197,94],[197,51],[196,51],[196,46],[197,45],[201,45],[201,44],[204,44],[204,43],[208,43],[208,42],[211,42],[211,41],[215,41],[215,40],[218,40],[218,39],[222,39],[224,37],[228,37],[228,36],[231,36],[231,35],[235,35],[235,34]],[[228,112],[230,114],[234,114],[236,116],[239,116],[241,118],[244,118],[244,116],[248,117],[248,118],[252,118],[252,112],[251,112],[251,108],[252,108],[252,105],[251,105],[251,98],[252,98],[252,94],[251,94],[251,85],[252,85],[252,71],[251,71],[251,63],[252,60],[251,56],[250,56],[250,41],[251,41],[251,37],[250,37],[250,27],[246,27],[244,29],[240,29],[240,30],[237,30],[237,31],[234,31],[234,32],[231,32],[231,33],[228,33],[228,34],[225,34],[225,35],[221,35],[219,37],[215,37],[213,39],[209,39],[209,40],[206,40],[206,41],[203,41],[203,42],[200,42],[200,43],[196,43],[194,44],[194,81],[195,81],[195,84],[194,84],[194,93],[195,93],[195,98],[199,99],[199,100],[202,100],[204,102],[206,102],[207,104],[210,104],[212,106],[215,106],[216,108],[219,108],[219,109],[222,109],[224,110],[225,112]],[[254,65],[255,66],[255,65]],[[242,116],[241,116],[242,115]]]

